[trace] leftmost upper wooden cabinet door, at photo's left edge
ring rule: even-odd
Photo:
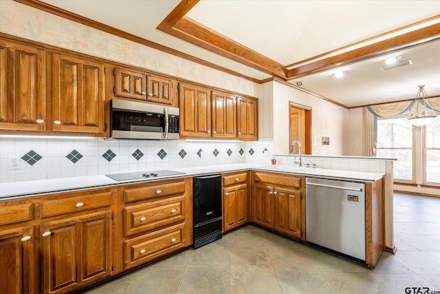
[[[46,128],[45,52],[0,41],[0,129]]]

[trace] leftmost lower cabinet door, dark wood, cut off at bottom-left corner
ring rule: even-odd
[[[0,293],[37,293],[32,227],[0,231]]]

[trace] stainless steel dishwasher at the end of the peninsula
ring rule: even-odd
[[[306,241],[366,260],[365,184],[306,178]]]

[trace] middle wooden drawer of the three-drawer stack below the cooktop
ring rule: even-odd
[[[148,231],[185,219],[185,196],[124,208],[125,235]]]

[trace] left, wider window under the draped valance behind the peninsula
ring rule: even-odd
[[[412,133],[412,125],[406,118],[377,120],[376,156],[397,158],[393,165],[395,180],[415,181]]]

